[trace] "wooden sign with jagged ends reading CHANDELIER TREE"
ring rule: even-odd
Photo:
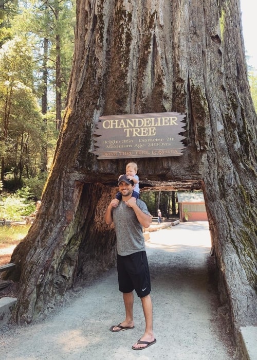
[[[97,123],[94,154],[98,159],[180,156],[185,146],[179,113],[101,116]]]

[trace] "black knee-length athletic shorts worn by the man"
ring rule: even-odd
[[[138,297],[151,292],[148,260],[145,251],[126,256],[117,256],[119,290],[122,293],[136,291]]]

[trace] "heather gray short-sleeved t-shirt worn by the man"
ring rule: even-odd
[[[137,199],[137,206],[145,214],[149,214],[142,200]],[[119,255],[125,256],[145,250],[142,225],[137,220],[134,210],[124,201],[121,200],[117,208],[113,208],[113,220]]]

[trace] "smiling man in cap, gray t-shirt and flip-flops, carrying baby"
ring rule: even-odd
[[[125,320],[111,331],[120,332],[134,329],[133,302],[136,291],[140,297],[145,318],[145,332],[132,346],[133,350],[142,350],[156,343],[153,334],[153,306],[150,296],[151,282],[148,260],[145,253],[142,226],[149,227],[151,216],[145,203],[131,199],[134,183],[120,176],[118,181],[122,201],[117,205],[112,200],[104,215],[105,222],[114,222],[117,237],[117,271],[119,290],[123,293]]]

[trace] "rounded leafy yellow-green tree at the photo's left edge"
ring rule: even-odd
[[[30,163],[39,155],[41,138],[41,117],[33,94],[32,59],[25,39],[15,37],[0,49],[0,128],[3,134],[0,148],[5,167],[14,169],[14,178],[18,181],[24,171],[30,173]]]

